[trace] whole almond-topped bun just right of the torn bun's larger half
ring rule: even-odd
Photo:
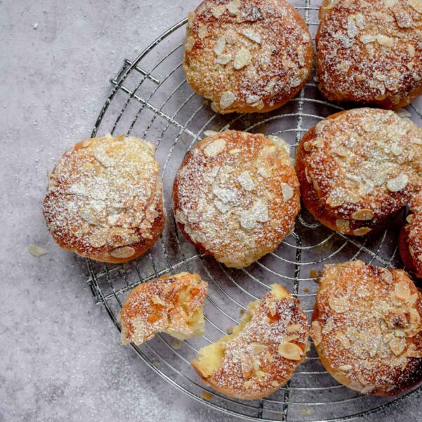
[[[422,381],[422,294],[406,272],[362,261],[326,265],[311,335],[347,388],[395,395]]]

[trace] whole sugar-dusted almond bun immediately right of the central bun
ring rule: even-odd
[[[396,113],[359,108],[331,115],[299,143],[302,201],[330,229],[381,229],[421,186],[422,129]]]

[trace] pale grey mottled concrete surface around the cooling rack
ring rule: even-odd
[[[41,215],[46,170],[89,136],[122,60],[195,4],[0,1],[0,421],[227,419],[120,345],[83,261],[51,241]],[[47,255],[30,255],[30,243]],[[421,421],[421,399],[367,420]]]

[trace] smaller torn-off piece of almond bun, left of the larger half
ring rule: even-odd
[[[208,283],[180,273],[143,283],[129,293],[120,311],[122,343],[140,345],[156,333],[179,340],[203,335]]]

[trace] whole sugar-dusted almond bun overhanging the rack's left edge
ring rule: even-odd
[[[62,248],[100,262],[150,249],[165,224],[155,147],[134,137],[87,139],[49,176],[44,217]]]

